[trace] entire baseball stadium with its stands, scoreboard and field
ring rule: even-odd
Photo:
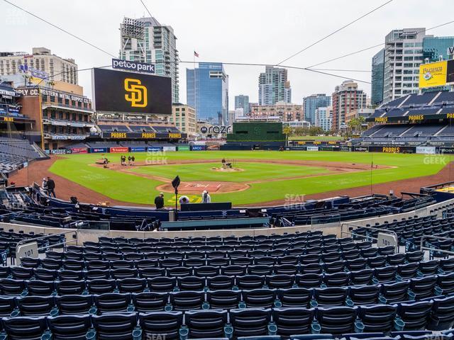
[[[122,49],[144,30],[124,18]],[[454,60],[435,59],[355,133],[345,103],[296,138],[221,111],[189,134],[175,81],[134,56],[90,69],[92,99],[0,82],[0,340],[453,340]]]

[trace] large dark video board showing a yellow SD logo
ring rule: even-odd
[[[93,69],[95,111],[172,114],[170,77]]]

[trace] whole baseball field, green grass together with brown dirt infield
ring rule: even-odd
[[[394,191],[399,190],[395,183],[405,183],[402,188],[416,188],[438,181],[433,176],[450,163],[446,155],[367,152],[182,151],[143,152],[134,156],[135,163],[126,166],[120,164],[121,154],[52,157],[45,174],[59,179],[57,195],[66,186],[72,191],[84,187],[117,203],[145,205],[152,205],[160,192],[165,193],[166,205],[174,204],[170,182],[178,175],[182,181],[179,193],[192,202],[199,202],[201,192],[207,190],[213,202],[245,205],[284,203],[318,193],[334,196],[348,190],[353,196],[355,188],[388,182],[393,182],[389,189]],[[109,159],[107,166],[96,164],[101,157]],[[230,166],[222,166],[221,159]],[[35,174],[33,167],[29,171],[35,176],[43,173],[40,169],[40,174]]]

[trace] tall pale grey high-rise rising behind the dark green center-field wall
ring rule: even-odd
[[[275,105],[283,101],[292,103],[292,89],[287,81],[287,69],[280,67],[265,67],[265,72],[258,77],[259,105]]]

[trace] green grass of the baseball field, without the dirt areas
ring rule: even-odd
[[[106,154],[111,162],[119,163],[120,154]],[[426,155],[423,154],[382,154],[382,153],[360,153],[360,152],[273,152],[273,151],[241,151],[241,152],[167,152],[165,154],[138,153],[135,154],[137,162],[161,162],[177,159],[213,159],[220,160],[236,159],[238,164],[241,159],[304,159],[321,162],[345,162],[362,164],[381,164],[393,166],[387,169],[373,170],[372,183],[385,183],[388,181],[398,181],[411,179],[419,176],[429,176],[436,174],[443,169],[443,162],[426,162]],[[439,159],[438,156],[432,156]],[[445,164],[450,161],[450,157],[445,157]],[[101,154],[74,154],[67,155],[64,159],[58,159],[50,168],[50,171],[59,176],[65,177],[70,181],[79,183],[82,186],[91,188],[114,200],[121,200],[131,203],[152,204],[157,194],[156,187],[162,184],[160,181],[145,179],[133,174],[125,174],[110,169],[102,169],[89,164],[93,164],[96,159],[101,158]],[[193,167],[194,166],[194,167]],[[162,174],[166,178],[173,178],[179,175],[182,181],[223,181],[226,179],[225,173],[212,171],[206,164],[184,164],[184,165],[160,165]],[[245,167],[253,171],[243,171],[234,175],[239,175],[236,181],[255,181],[257,179],[271,179],[289,177],[293,174],[293,168],[287,164],[260,164],[248,162]],[[155,166],[138,167],[134,171],[151,171],[148,168]],[[295,174],[300,176],[301,171],[316,171],[321,173],[321,169],[314,169],[312,166],[295,166]],[[308,173],[309,174],[309,173]],[[314,176],[304,179],[282,179],[281,181],[265,181],[262,183],[252,183],[246,191],[238,193],[213,193],[213,201],[231,201],[233,204],[241,205],[247,203],[261,203],[270,200],[284,200],[291,195],[309,195],[325,191],[334,191],[358,186],[367,186],[371,183],[370,171],[361,171],[348,174],[333,174],[326,176]],[[169,203],[170,204],[170,203]]]

